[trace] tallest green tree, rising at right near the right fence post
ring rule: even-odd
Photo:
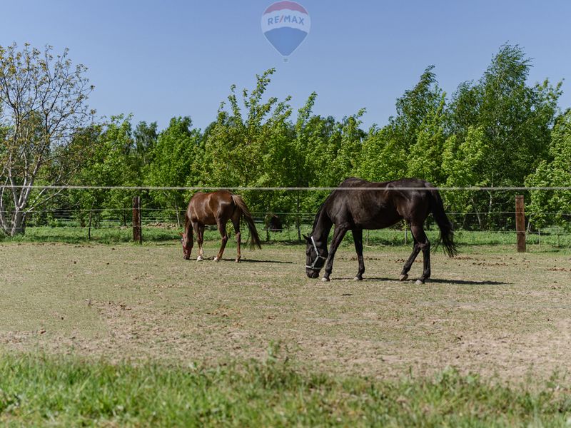
[[[470,185],[520,186],[550,147],[550,129],[557,115],[561,83],[549,81],[529,86],[531,61],[520,46],[504,45],[492,58],[482,78],[459,86],[450,103],[450,133],[458,146],[475,137],[490,156],[478,168],[479,183]],[[463,163],[458,153],[460,163]],[[468,206],[464,209],[468,209]],[[510,217],[492,215],[513,209],[513,195],[502,192],[477,193],[470,210],[477,213],[480,227],[507,225]],[[484,216],[484,214],[486,214]]]

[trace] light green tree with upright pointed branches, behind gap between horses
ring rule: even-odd
[[[295,157],[290,97],[278,101],[270,97],[263,101],[264,93],[275,72],[271,68],[256,76],[252,91],[243,89],[242,104],[231,86],[226,103],[221,104],[218,120],[208,132],[205,141],[204,183],[216,186],[274,186],[293,185]],[[244,192],[253,210],[270,211],[273,192]]]

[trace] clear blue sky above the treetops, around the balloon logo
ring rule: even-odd
[[[426,66],[435,65],[451,94],[480,78],[506,42],[532,58],[530,83],[571,74],[569,1],[298,2],[311,31],[287,63],[261,31],[272,0],[9,1],[0,12],[0,45],[69,48],[74,62],[89,67],[98,114],[133,113],[160,128],[173,116],[204,128],[232,83],[251,88],[256,73],[271,67],[271,96],[289,94],[298,108],[316,91],[315,113],[337,118],[365,107],[365,127],[386,123]],[[563,90],[567,108],[567,81]]]

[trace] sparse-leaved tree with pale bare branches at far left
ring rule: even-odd
[[[11,236],[24,233],[26,215],[61,191],[34,192],[34,185],[73,178],[84,149],[74,135],[94,114],[86,67],[72,66],[67,49],[55,57],[51,51],[0,46],[0,228]]]

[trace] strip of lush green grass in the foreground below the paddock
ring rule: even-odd
[[[263,362],[112,365],[0,355],[3,426],[490,427],[571,424],[570,390],[541,392],[445,370],[382,381],[304,372],[271,347]],[[279,351],[279,350],[278,350]]]

